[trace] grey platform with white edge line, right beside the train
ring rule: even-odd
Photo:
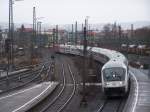
[[[131,90],[124,112],[150,112],[150,76],[130,67]]]

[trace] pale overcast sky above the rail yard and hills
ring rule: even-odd
[[[8,1],[0,0],[0,22],[8,22]],[[32,23],[33,6],[50,24],[150,21],[150,0],[24,0],[16,1],[14,22]]]

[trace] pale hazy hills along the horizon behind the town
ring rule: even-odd
[[[24,24],[25,27],[32,27],[32,24],[29,24],[29,23],[22,23],[22,24]],[[15,28],[21,27],[22,24],[15,23]],[[92,29],[102,30],[102,28],[105,24],[107,24],[107,23],[90,24],[90,27]],[[113,23],[110,23],[110,24],[113,24]],[[122,23],[116,23],[116,24],[121,25],[123,29],[130,29],[131,24],[134,25],[134,29],[142,28],[142,27],[146,27],[146,26],[150,27],[150,21],[122,22]],[[0,22],[0,28],[7,29],[8,23]],[[46,23],[46,24],[42,24],[42,28],[43,29],[55,28],[55,25],[50,25],[50,24]],[[70,24],[59,25],[59,28],[63,28],[63,29],[71,31],[71,25]],[[81,30],[81,29],[82,29],[82,25],[78,24],[78,30]]]

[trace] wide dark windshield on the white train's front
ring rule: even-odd
[[[123,81],[125,80],[125,70],[119,67],[107,68],[103,71],[103,77],[104,81]]]

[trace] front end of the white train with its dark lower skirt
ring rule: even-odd
[[[124,96],[128,92],[128,67],[110,61],[102,68],[102,90],[108,96]]]

